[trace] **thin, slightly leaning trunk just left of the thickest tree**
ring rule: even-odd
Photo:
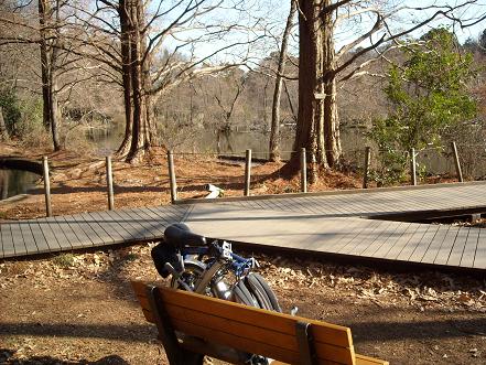
[[[270,160],[280,161],[280,97],[282,95],[282,74],[285,71],[287,47],[289,34],[293,26],[293,18],[296,11],[296,0],[290,1],[289,18],[287,18],[285,29],[282,35],[282,46],[279,55],[279,66],[277,68],[276,88],[272,101],[272,124],[270,128]]]

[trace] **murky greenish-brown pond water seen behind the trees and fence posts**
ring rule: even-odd
[[[295,131],[291,128],[282,128],[281,153],[282,159],[288,159],[291,151]],[[109,130],[94,130],[88,136],[98,146],[98,153],[106,155],[112,153],[121,143],[123,127],[118,125]],[[345,159],[353,165],[363,167],[365,160],[365,147],[369,144],[366,130],[363,128],[343,128],[341,132],[342,147]],[[231,130],[228,133],[217,135],[209,129],[184,129],[174,128],[171,133],[165,132],[161,138],[174,152],[219,153],[238,154],[244,157],[246,149],[251,149],[255,158],[268,158],[268,144],[270,135],[253,130]],[[449,151],[449,148],[446,149]],[[463,164],[463,173],[476,179],[486,175],[486,150],[482,153],[471,154],[467,149],[460,148],[460,159]],[[417,157],[419,170],[428,174],[449,173],[455,175],[452,154],[449,155],[428,149],[419,152]],[[377,165],[377,153],[371,152],[371,168]]]

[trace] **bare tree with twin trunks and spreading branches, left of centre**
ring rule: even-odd
[[[97,0],[96,3],[96,9],[76,8],[76,20],[84,22],[89,34],[82,41],[89,53],[86,56],[104,61],[109,68],[105,75],[110,75],[125,90],[127,127],[118,153],[129,162],[143,158],[156,143],[152,106],[161,96],[186,80],[240,65],[249,46],[263,36],[262,31],[253,29],[252,37],[224,42],[231,32],[245,30],[236,20],[213,22],[208,17],[222,9],[244,11],[235,4],[226,9],[224,1]],[[111,20],[114,15],[118,18],[116,23]],[[168,41],[175,44],[172,51]],[[197,52],[197,45],[207,47],[212,43],[215,45],[203,55]],[[233,54],[231,62],[210,63],[215,56],[234,50],[239,53]]]

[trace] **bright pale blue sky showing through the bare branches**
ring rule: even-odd
[[[279,36],[283,31],[283,26],[287,21],[287,15],[290,8],[290,1],[283,0],[229,0],[233,1],[227,8],[217,10],[210,13],[210,17],[206,19],[207,23],[238,23],[238,24],[248,24],[251,25],[251,31],[247,32],[246,30],[241,30],[240,32],[234,32],[233,34],[228,34],[220,40],[210,40],[207,42],[202,42],[196,45],[196,49],[193,51],[197,54],[198,57],[204,57],[207,54],[215,52],[216,50],[224,47],[231,42],[245,42],[248,40],[256,39],[258,35],[262,35],[262,29],[266,29],[266,37],[252,44],[251,51],[247,46],[239,46],[238,49],[229,49],[218,56],[213,58],[213,62],[233,62],[236,57],[236,53],[244,54],[245,56],[253,57],[255,62],[261,60],[264,56],[268,56],[270,52],[278,51],[279,47]],[[407,1],[397,1],[397,0],[368,0],[360,1],[360,3],[368,4],[379,4],[380,7],[389,7],[396,9],[397,7],[409,7],[409,8],[428,8],[432,6],[439,4],[447,4],[451,7],[457,6],[460,3],[464,3],[466,0],[407,0]],[[240,6],[241,8],[249,8],[250,10],[247,12],[234,11],[231,6]],[[354,11],[358,10],[355,8]],[[398,12],[396,17],[389,22],[393,28],[393,31],[399,31],[402,29],[410,29],[421,20],[429,18],[435,10],[421,10],[421,11],[411,11],[408,9],[403,9]],[[467,7],[461,8],[460,12],[456,12],[456,15],[461,15],[462,19],[471,20],[476,18],[478,14],[486,13],[486,0],[478,0],[475,4],[469,4]],[[336,32],[336,49],[341,49],[343,45],[349,43],[355,40],[360,34],[365,33],[369,30],[376,18],[375,14],[365,13],[360,17],[355,17],[353,21],[344,22],[343,25]],[[469,21],[471,22],[471,21]],[[451,21],[445,19],[438,19],[436,21],[423,26],[422,29],[415,31],[411,35],[414,37],[420,37],[423,33],[426,33],[430,29],[436,28],[439,25],[449,25],[451,26]],[[474,26],[469,26],[466,29],[461,29],[457,24],[453,30],[460,42],[465,42],[468,37],[477,39],[478,35],[486,29],[486,21],[475,24]],[[196,34],[201,34],[203,31],[194,31],[190,28],[183,33],[180,33],[180,36],[195,36]],[[366,40],[361,45],[369,44],[369,40]],[[168,39],[169,49],[173,49],[176,44],[181,44],[180,40]],[[236,52],[238,50],[238,52]],[[184,52],[188,52],[187,49]],[[296,37],[291,41],[290,52],[293,54],[298,53],[298,40]]]

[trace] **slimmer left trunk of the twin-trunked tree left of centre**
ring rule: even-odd
[[[127,0],[120,0],[118,6],[118,17],[120,19],[120,44],[121,44],[121,80],[123,84],[125,103],[125,137],[117,150],[117,155],[125,157],[130,151],[132,135],[132,105],[131,105],[131,57],[130,57],[130,34],[132,26],[130,23],[129,8]]]

